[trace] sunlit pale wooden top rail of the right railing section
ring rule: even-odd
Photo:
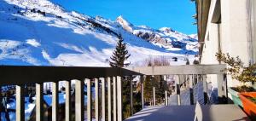
[[[140,66],[126,69],[144,75],[176,75],[176,74],[223,74],[226,65],[183,65],[183,66]]]

